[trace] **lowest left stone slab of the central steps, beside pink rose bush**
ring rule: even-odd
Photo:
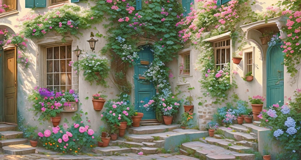
[[[94,149],[92,149],[92,151],[97,154],[107,156],[107,155],[115,155],[116,153],[118,154],[131,153],[132,149],[121,148],[119,146],[107,146],[107,147],[95,147]]]

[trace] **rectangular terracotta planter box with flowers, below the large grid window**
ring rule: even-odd
[[[64,91],[64,90],[63,90]],[[78,93],[73,89],[65,91],[62,93],[62,101],[64,103],[63,110],[64,112],[75,112],[77,111],[77,102],[78,102]]]

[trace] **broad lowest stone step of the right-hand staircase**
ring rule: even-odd
[[[183,143],[182,149],[187,151],[189,154],[200,156],[200,159],[207,160],[255,159],[254,154],[237,153],[221,146],[206,144],[198,141]]]

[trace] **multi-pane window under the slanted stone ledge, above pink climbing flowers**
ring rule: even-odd
[[[215,42],[213,46],[216,67],[222,69],[226,63],[230,62],[230,39]]]

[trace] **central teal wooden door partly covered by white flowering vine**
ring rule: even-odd
[[[146,111],[142,106],[144,103],[140,101],[148,102],[156,95],[156,89],[152,82],[144,81],[142,77],[144,71],[148,69],[149,64],[154,60],[150,47],[144,47],[139,53],[140,61],[138,61],[134,67],[135,74],[135,109],[138,112],[144,113],[142,119],[156,119],[155,112],[153,110]],[[139,107],[139,105],[141,107]]]

